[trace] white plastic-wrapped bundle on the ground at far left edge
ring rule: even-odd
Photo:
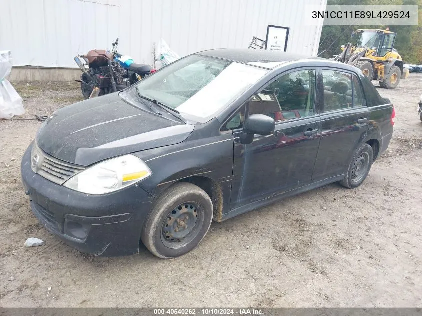
[[[22,98],[6,80],[11,71],[11,53],[0,51],[0,118],[12,118],[25,113]]]

